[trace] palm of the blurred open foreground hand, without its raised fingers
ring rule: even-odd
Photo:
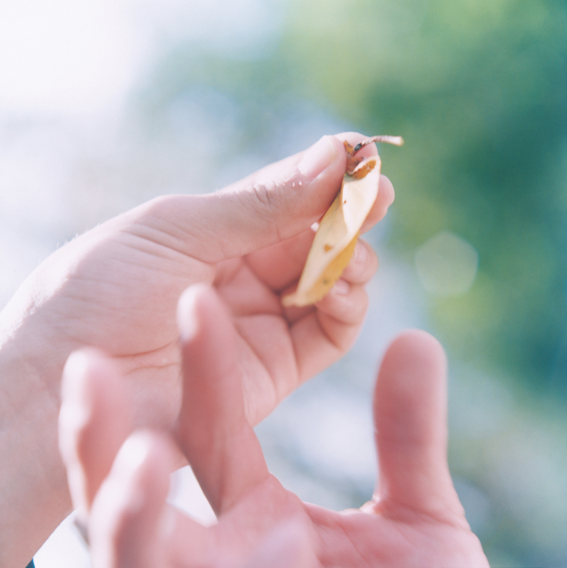
[[[273,477],[208,529],[208,547],[203,547],[207,542],[203,527],[182,513],[175,515],[176,534],[166,545],[160,543],[162,554],[167,551],[164,566],[223,567],[245,562],[262,538],[286,518],[302,525],[321,567],[486,566],[479,541],[462,514],[446,511],[445,518],[436,518],[411,510],[393,510],[389,515],[334,512],[301,502]]]

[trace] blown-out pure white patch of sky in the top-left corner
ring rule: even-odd
[[[124,2],[3,2],[0,112],[91,113],[116,105],[140,71],[141,52]]]

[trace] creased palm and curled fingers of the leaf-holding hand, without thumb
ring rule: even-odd
[[[362,323],[365,302],[347,318],[336,313],[332,300],[317,309],[282,309],[279,293],[297,279],[302,262],[289,251],[297,254],[299,245],[307,254],[310,238],[307,231],[260,253],[215,263],[121,232],[78,263],[51,312],[65,330],[69,351],[81,345],[101,348],[144,386],[143,399],[138,399],[141,415],[155,415],[160,405],[172,417],[179,401],[174,393],[180,388],[177,302],[190,284],[212,283],[235,324],[240,364],[246,370],[242,378],[250,394],[249,419],[257,423],[300,382],[347,351]],[[358,269],[362,279],[372,274],[373,261],[362,267],[365,274]],[[270,264],[280,274],[270,272]],[[354,294],[359,294],[356,288]],[[325,311],[333,309],[330,315]],[[307,351],[315,357],[307,358]]]

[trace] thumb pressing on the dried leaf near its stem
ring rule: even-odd
[[[349,140],[362,135],[349,135]],[[364,148],[376,153],[376,148]],[[327,210],[346,167],[342,140],[324,136],[311,148],[262,168],[224,190],[158,198],[144,224],[185,254],[205,262],[242,256],[308,229]]]

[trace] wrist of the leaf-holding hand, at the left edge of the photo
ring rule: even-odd
[[[0,565],[17,568],[71,510],[57,443],[65,350],[24,296],[0,314]]]

